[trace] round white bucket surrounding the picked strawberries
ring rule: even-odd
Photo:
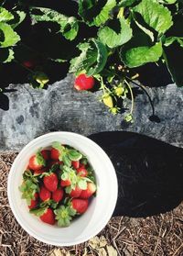
[[[68,228],[50,226],[29,214],[26,200],[21,199],[18,190],[30,156],[40,147],[50,146],[53,141],[81,150],[88,157],[96,175],[96,197],[92,199],[87,212],[71,222]],[[52,132],[29,142],[17,155],[7,183],[9,204],[21,227],[34,238],[56,246],[76,245],[97,235],[113,215],[117,192],[115,170],[107,154],[91,139],[72,132]]]

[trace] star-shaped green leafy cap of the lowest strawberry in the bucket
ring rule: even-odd
[[[59,206],[54,210],[59,227],[69,227],[70,220],[76,215],[76,210],[70,206]]]

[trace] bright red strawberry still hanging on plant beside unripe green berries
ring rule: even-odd
[[[75,79],[74,87],[76,90],[90,90],[93,88],[95,80],[92,76],[86,76],[85,73],[81,73]]]

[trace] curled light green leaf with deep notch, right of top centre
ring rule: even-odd
[[[103,44],[109,48],[114,48],[123,45],[132,38],[132,29],[124,18],[118,20],[120,23],[120,32],[117,33],[113,28],[106,26],[98,32],[98,37]]]

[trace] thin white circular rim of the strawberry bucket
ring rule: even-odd
[[[111,163],[111,173],[113,175],[113,183],[114,183],[114,187],[113,187],[113,204],[111,204],[110,210],[108,211],[108,214],[105,217],[105,221],[102,222],[102,225],[100,225],[100,224],[98,225],[98,228],[95,229],[95,232],[93,232],[92,235],[88,235],[86,238],[79,239],[78,241],[74,241],[74,243],[71,242],[71,241],[70,242],[55,242],[55,241],[54,242],[52,242],[52,241],[50,242],[48,239],[42,239],[42,238],[38,237],[36,232],[34,232],[31,228],[28,228],[28,225],[27,225],[27,227],[25,227],[25,225],[22,222],[21,218],[18,216],[18,214],[16,214],[16,209],[15,209],[15,206],[14,206],[14,203],[13,203],[13,200],[12,200],[12,196],[11,196],[10,183],[11,183],[11,180],[12,180],[13,174],[14,174],[13,170],[15,169],[17,162],[21,160],[21,156],[24,153],[24,151],[27,150],[27,148],[30,148],[39,139],[46,139],[49,136],[59,135],[59,134],[61,134],[63,136],[64,135],[66,135],[66,136],[70,136],[71,135],[71,136],[76,136],[76,137],[81,138],[81,139],[85,139],[89,143],[91,143],[93,147],[95,147],[95,148],[97,147],[99,150],[101,150],[102,154]],[[73,245],[81,244],[82,242],[85,242],[85,241],[87,241],[89,239],[92,239],[94,236],[96,236],[102,230],[102,228],[104,228],[107,225],[108,221],[113,216],[113,210],[114,210],[114,208],[116,206],[117,196],[118,196],[118,181],[117,181],[117,176],[116,176],[116,173],[115,173],[115,169],[113,167],[113,163],[110,160],[109,156],[92,139],[89,139],[89,138],[87,138],[87,137],[85,137],[85,136],[83,136],[81,134],[78,134],[78,133],[75,133],[75,132],[69,132],[69,131],[48,132],[48,133],[46,133],[44,135],[38,136],[36,139],[32,139],[30,142],[28,142],[27,145],[22,150],[20,150],[20,152],[16,156],[16,159],[15,159],[15,161],[13,162],[13,164],[11,166],[11,169],[10,169],[10,172],[9,172],[8,178],[7,178],[7,197],[8,197],[8,201],[9,201],[9,205],[11,207],[11,210],[12,210],[12,212],[14,214],[14,217],[16,217],[16,221],[18,222],[18,224],[23,229],[25,229],[27,231],[27,234],[29,234],[30,236],[34,237],[35,239],[38,239],[39,241],[42,241],[44,243],[47,243],[47,244],[50,244],[50,245],[54,245],[54,246],[73,246]]]

